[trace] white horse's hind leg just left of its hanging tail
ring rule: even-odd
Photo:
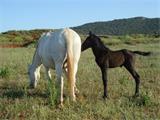
[[[57,75],[57,80],[56,80],[56,89],[57,89],[57,94],[58,94],[58,100],[60,100],[60,104],[63,106],[63,77],[62,77],[62,65],[61,64],[56,64],[56,75]]]

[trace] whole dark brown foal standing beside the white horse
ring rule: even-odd
[[[107,97],[107,70],[108,68],[122,67],[124,66],[133,76],[136,83],[135,96],[139,95],[140,76],[135,71],[135,54],[148,56],[150,52],[130,51],[122,49],[118,51],[112,51],[107,48],[101,39],[90,32],[87,39],[82,44],[82,51],[92,48],[95,56],[95,61],[100,67],[102,72],[102,80],[104,86],[104,96]]]

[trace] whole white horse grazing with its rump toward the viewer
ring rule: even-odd
[[[40,78],[40,68],[43,64],[48,79],[51,79],[49,69],[56,70],[56,88],[59,91],[58,99],[63,104],[63,69],[67,69],[70,95],[75,101],[75,82],[78,69],[78,61],[81,54],[80,36],[73,30],[66,28],[43,34],[38,41],[38,45],[33,56],[32,64],[28,73],[30,86],[35,88]],[[67,63],[66,63],[67,61]],[[65,68],[66,67],[66,68]]]

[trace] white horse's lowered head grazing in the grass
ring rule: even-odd
[[[30,88],[35,88],[37,86],[37,80],[36,76],[33,70],[32,65],[28,65],[28,75],[29,75],[29,82],[30,82]]]

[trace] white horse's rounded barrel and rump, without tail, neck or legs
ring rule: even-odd
[[[62,59],[66,59],[67,39],[73,42],[74,59],[79,60],[81,52],[81,46],[79,46],[81,44],[81,39],[79,35],[71,29],[60,29],[55,32],[44,34],[39,40],[37,50],[42,61],[44,61],[44,65],[47,67],[54,67],[53,64],[55,63],[53,63],[53,61],[59,62]]]

